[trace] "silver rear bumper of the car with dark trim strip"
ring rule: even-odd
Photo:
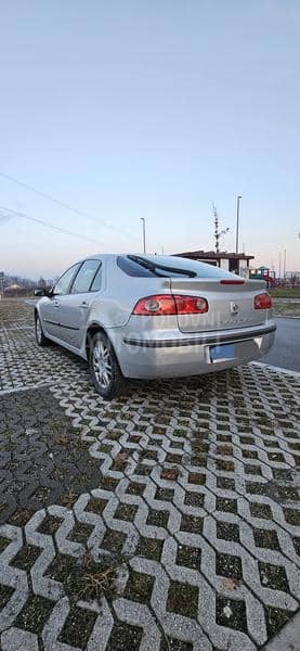
[[[122,336],[115,342],[120,368],[126,378],[181,378],[211,373],[259,359],[274,343],[276,326],[268,322],[256,328],[197,333],[186,336],[179,331],[166,337],[155,333],[149,339]],[[119,345],[118,345],[119,344]],[[212,348],[221,348],[220,359],[212,361]],[[231,356],[222,356],[231,345]]]

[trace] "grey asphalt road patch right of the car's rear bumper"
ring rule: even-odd
[[[277,326],[274,346],[260,361],[300,372],[300,319],[274,320]]]

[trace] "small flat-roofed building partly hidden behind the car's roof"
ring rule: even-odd
[[[214,267],[220,267],[232,273],[239,273],[245,278],[249,278],[249,264],[255,259],[253,255],[245,255],[245,253],[227,253],[226,251],[187,251],[184,253],[174,253],[178,257],[186,257],[191,260],[207,263]]]

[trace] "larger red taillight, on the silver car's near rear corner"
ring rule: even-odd
[[[208,311],[206,298],[181,296],[180,294],[158,294],[141,298],[133,315],[159,317],[164,315],[203,315]]]

